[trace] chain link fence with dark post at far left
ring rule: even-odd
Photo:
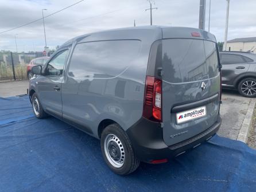
[[[0,53],[0,82],[28,79],[27,65],[36,57],[42,57],[42,55],[35,53]]]

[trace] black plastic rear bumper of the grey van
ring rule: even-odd
[[[221,122],[222,119],[218,116],[218,120],[204,132],[172,146],[167,146],[162,139],[160,124],[150,122],[143,117],[126,133],[133,144],[137,158],[142,162],[150,163],[152,160],[175,158],[199,146],[216,134]]]

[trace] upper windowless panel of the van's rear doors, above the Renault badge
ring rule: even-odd
[[[218,75],[216,44],[195,39],[162,41],[162,66],[165,79],[182,83]]]

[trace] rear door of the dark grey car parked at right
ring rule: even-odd
[[[247,61],[252,62],[253,60],[250,61],[250,58],[240,54],[220,53],[222,84],[234,85],[235,78],[249,69],[250,64]]]

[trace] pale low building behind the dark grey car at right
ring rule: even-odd
[[[227,50],[256,53],[256,37],[235,38],[227,41]]]

